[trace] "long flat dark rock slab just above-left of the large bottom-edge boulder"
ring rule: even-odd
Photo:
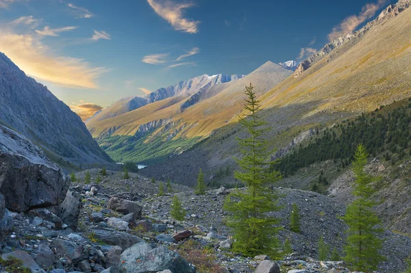
[[[121,246],[123,250],[133,246],[134,244],[144,242],[140,237],[121,231],[105,231],[103,229],[92,229],[95,238],[101,240],[105,244],[112,246]]]

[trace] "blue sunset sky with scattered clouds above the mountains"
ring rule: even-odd
[[[301,61],[390,3],[0,0],[0,51],[86,119],[199,75]]]

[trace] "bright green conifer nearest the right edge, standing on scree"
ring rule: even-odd
[[[353,161],[356,179],[352,194],[356,199],[347,206],[347,212],[343,216],[349,226],[343,260],[353,270],[372,272],[377,270],[380,261],[384,261],[384,257],[379,254],[383,241],[378,237],[383,229],[379,227],[381,222],[373,211],[377,203],[371,198],[376,192],[372,185],[376,179],[364,171],[367,157],[364,146],[360,144]]]

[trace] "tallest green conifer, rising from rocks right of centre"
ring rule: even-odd
[[[279,219],[269,216],[271,211],[279,211],[279,194],[269,186],[279,179],[279,172],[272,171],[270,161],[272,151],[267,149],[264,136],[268,128],[266,122],[258,116],[260,102],[256,98],[253,86],[246,87],[245,111],[240,124],[247,131],[247,138],[239,139],[242,157],[236,159],[242,169],[235,173],[235,178],[246,185],[229,194],[224,208],[231,213],[227,226],[234,231],[233,248],[243,255],[259,254],[277,257],[279,253]]]

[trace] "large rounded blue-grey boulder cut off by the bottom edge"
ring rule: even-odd
[[[136,263],[136,261],[139,261]],[[147,273],[170,270],[172,273],[195,273],[196,269],[177,253],[166,248],[135,244],[121,254],[118,268],[122,273]]]

